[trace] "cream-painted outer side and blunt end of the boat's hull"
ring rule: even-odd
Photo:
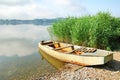
[[[62,43],[62,45],[64,44]],[[103,50],[98,51],[98,53],[96,53],[95,55],[93,54],[75,55],[75,54],[65,54],[62,52],[54,51],[48,48],[46,45],[41,45],[40,43],[39,43],[39,48],[45,51],[48,55],[58,60],[70,62],[74,64],[80,64],[80,65],[102,65],[113,59],[112,53],[108,54],[106,51]]]

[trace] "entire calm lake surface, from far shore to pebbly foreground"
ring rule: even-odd
[[[0,80],[29,80],[56,71],[38,50],[39,41],[50,39],[47,27],[0,25]]]

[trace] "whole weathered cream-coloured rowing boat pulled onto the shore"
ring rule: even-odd
[[[58,60],[80,65],[102,65],[113,59],[113,53],[109,51],[67,43],[42,41],[39,48]]]

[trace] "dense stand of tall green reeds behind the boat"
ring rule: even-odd
[[[49,32],[57,41],[110,50],[111,42],[120,37],[120,18],[104,12],[94,16],[68,17],[54,23]]]

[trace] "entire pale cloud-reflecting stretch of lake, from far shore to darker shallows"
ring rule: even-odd
[[[36,52],[38,42],[49,39],[47,27],[34,25],[0,26],[0,56],[25,56]]]

